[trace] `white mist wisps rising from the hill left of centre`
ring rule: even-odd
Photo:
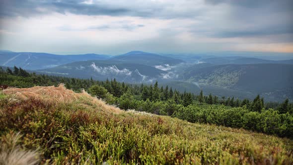
[[[92,63],[90,67],[93,68],[94,71],[98,72],[101,75],[115,74],[115,75],[131,76],[132,74],[130,70],[126,68],[119,70],[115,65],[108,66],[108,67],[99,67],[99,66],[96,66],[95,63]]]

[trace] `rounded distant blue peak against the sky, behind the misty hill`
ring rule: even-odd
[[[182,60],[160,56],[153,53],[132,51],[123,55],[114,56],[111,61],[119,61],[124,63],[144,64],[147,66],[159,66],[159,65],[175,65],[182,63]]]

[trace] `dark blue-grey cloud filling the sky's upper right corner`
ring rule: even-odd
[[[234,38],[293,34],[293,0],[205,0],[205,2],[211,6],[227,5],[229,15],[224,21],[231,23],[229,28],[214,28],[213,31],[206,32],[209,36]],[[246,25],[249,26],[245,27]],[[293,39],[288,40],[286,36],[285,38],[286,41],[293,41]]]

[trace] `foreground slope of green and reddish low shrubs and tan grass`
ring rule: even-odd
[[[0,97],[1,144],[20,132],[19,150],[37,150],[41,163],[293,163],[289,139],[121,111],[62,86],[4,93],[9,94]],[[0,161],[9,151],[2,149]]]

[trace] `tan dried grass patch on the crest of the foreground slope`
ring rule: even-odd
[[[30,88],[7,88],[3,90],[3,93],[12,95],[14,98],[19,100],[41,99],[54,103],[72,103],[74,101],[86,100],[92,105],[98,106],[101,110],[114,113],[122,112],[119,108],[108,105],[101,99],[92,97],[84,90],[81,93],[75,93],[73,90],[67,89],[64,84],[59,84],[58,87],[34,86]]]

